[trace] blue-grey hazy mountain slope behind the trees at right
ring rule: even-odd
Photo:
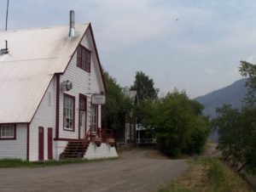
[[[216,107],[221,107],[223,104],[232,104],[233,107],[240,108],[241,100],[244,98],[247,89],[245,88],[246,79],[241,79],[234,82],[230,86],[220,88],[212,93],[207,93],[204,96],[195,98],[198,102],[205,105],[204,114],[216,117]]]

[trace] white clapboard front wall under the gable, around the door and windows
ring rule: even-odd
[[[73,88],[70,91],[64,92],[75,97],[75,130],[74,132],[67,131],[63,129],[63,93],[60,95],[60,138],[79,138],[79,93],[82,93],[87,96],[87,130],[90,127],[90,96],[93,93],[101,93],[101,85],[99,83],[99,70],[97,59],[96,59],[96,50],[92,38],[90,37],[90,31],[86,31],[84,38],[81,41],[81,44],[88,48],[91,51],[91,60],[90,60],[90,73],[80,69],[77,66],[77,53],[73,54],[73,58],[70,61],[70,64],[67,66],[67,70],[61,76],[60,82],[70,81],[73,83]],[[101,121],[101,107],[98,108],[98,120]],[[101,122],[98,123],[101,126]]]

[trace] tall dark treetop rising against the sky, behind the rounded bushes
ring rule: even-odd
[[[159,93],[159,89],[154,88],[153,79],[146,76],[143,71],[136,72],[135,81],[131,86],[131,90],[137,91],[140,101],[157,99]]]

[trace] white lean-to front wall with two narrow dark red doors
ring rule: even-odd
[[[53,138],[55,138],[55,101],[56,79],[54,77],[30,124],[30,161],[38,161],[38,127],[44,127],[44,160],[48,159],[48,127],[53,129]],[[55,152],[55,142],[53,142],[53,157],[54,159],[58,159],[57,153]]]

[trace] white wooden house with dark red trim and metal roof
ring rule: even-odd
[[[90,24],[0,31],[0,49],[0,158],[117,156],[91,104],[106,88]]]

